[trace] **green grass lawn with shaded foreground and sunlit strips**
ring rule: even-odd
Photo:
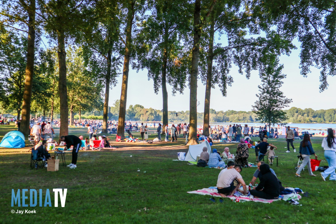
[[[13,125],[0,126],[0,139],[14,130]],[[87,129],[70,128],[70,134],[87,137]],[[149,136],[154,139],[154,129]],[[57,129],[55,130],[57,133]],[[133,132],[136,137],[139,132]],[[115,135],[109,135],[115,140]],[[257,138],[253,138],[257,140]],[[221,204],[210,196],[188,194],[187,191],[216,186],[219,170],[187,165],[177,159],[177,152],[187,152],[185,140],[160,143],[117,143],[117,150],[80,151],[77,168],[59,167],[58,172],[31,170],[29,148],[0,148],[0,223],[336,223],[335,181],[326,182],[310,177],[294,177],[297,153],[285,153],[285,139],[269,140],[278,146],[279,166],[272,166],[283,186],[308,191],[302,206],[285,201],[272,204],[235,203],[224,199]],[[312,138],[313,148],[321,166],[327,165],[321,148],[322,138]],[[237,144],[215,143],[212,148],[222,152],[228,146],[236,151]],[[292,150],[292,149],[291,149]],[[250,149],[250,162],[255,161]],[[53,153],[52,153],[53,155]],[[130,157],[132,155],[132,157]],[[312,157],[311,157],[312,158]],[[71,151],[66,154],[71,162]],[[137,170],[140,171],[137,171]],[[256,168],[245,168],[242,176],[248,184]],[[50,189],[52,207],[11,207],[11,189]],[[65,207],[54,207],[53,188],[67,188]],[[29,195],[26,204],[29,204]],[[43,196],[44,201],[44,196]],[[11,214],[11,210],[36,210],[36,214]],[[270,217],[270,218],[268,218]]]

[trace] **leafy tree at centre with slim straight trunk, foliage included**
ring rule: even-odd
[[[185,87],[188,63],[181,63],[185,51],[185,35],[190,31],[191,4],[184,0],[154,1],[149,10],[151,14],[140,24],[137,35],[137,63],[134,67],[148,70],[148,78],[154,81],[154,92],[162,89],[163,124],[168,123],[167,83],[175,92],[182,93]],[[165,133],[163,129],[162,133]]]

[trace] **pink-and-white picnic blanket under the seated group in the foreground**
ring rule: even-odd
[[[289,189],[294,189],[294,188],[289,188]],[[211,195],[214,197],[221,197],[220,194],[217,191],[217,187],[209,187],[209,188],[203,188],[200,190],[194,190],[194,191],[188,191],[187,193],[190,194],[201,194],[201,195]],[[278,200],[294,200],[298,201],[301,199],[301,195],[296,193],[295,191],[290,194],[283,194],[280,195],[278,199],[263,199],[263,198],[255,198],[253,195],[248,194],[247,196],[243,195],[239,191],[236,191],[236,193],[233,196],[227,196],[227,198],[230,198],[231,200],[238,201],[239,199],[240,202],[245,202],[245,201],[255,201],[255,202],[262,202],[262,203],[272,203],[273,201],[278,201]]]

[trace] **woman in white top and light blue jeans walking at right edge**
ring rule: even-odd
[[[322,141],[322,148],[324,148],[324,157],[326,158],[329,168],[321,173],[322,179],[326,181],[326,178],[329,176],[329,180],[336,180],[336,139],[334,131],[329,128],[328,135]]]

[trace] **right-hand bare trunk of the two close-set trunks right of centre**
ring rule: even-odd
[[[203,135],[209,136],[209,120],[210,120],[210,94],[212,82],[212,61],[213,61],[213,37],[214,37],[214,16],[211,16],[210,35],[209,35],[209,50],[208,50],[208,70],[207,70],[207,84],[205,87],[204,100],[204,117],[203,117]]]

